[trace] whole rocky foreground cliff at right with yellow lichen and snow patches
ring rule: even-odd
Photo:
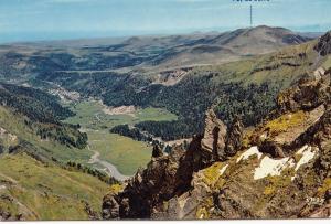
[[[327,34],[316,49],[330,45]],[[154,148],[145,170],[104,198],[104,218],[330,217],[330,70],[319,68],[253,130],[209,110],[188,150]]]

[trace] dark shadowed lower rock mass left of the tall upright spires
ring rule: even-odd
[[[193,170],[186,157],[180,147],[169,156],[153,157],[122,192],[105,196],[104,218],[148,218],[164,200],[188,191]]]

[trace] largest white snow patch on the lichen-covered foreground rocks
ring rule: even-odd
[[[280,175],[284,169],[293,166],[295,166],[293,159],[290,159],[288,157],[276,160],[266,156],[260,161],[259,167],[255,169],[254,180],[263,179],[268,175]]]

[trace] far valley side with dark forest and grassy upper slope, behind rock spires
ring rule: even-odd
[[[179,119],[146,121],[137,127],[164,140],[172,140],[201,132],[201,118],[212,104],[217,104],[216,113],[226,124],[234,115],[245,117],[245,126],[259,122],[274,109],[275,97],[280,89],[325,61],[316,61],[314,43],[290,46],[241,63],[195,67],[170,86],[154,83],[153,76],[114,72],[56,72],[40,75],[39,78],[55,82],[85,96],[99,97],[109,106],[167,108]]]

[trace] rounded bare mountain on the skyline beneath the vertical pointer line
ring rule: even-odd
[[[280,47],[301,44],[310,40],[312,39],[284,28],[261,25],[238,29],[183,43],[159,55],[151,63],[162,67],[220,64],[275,52]]]

